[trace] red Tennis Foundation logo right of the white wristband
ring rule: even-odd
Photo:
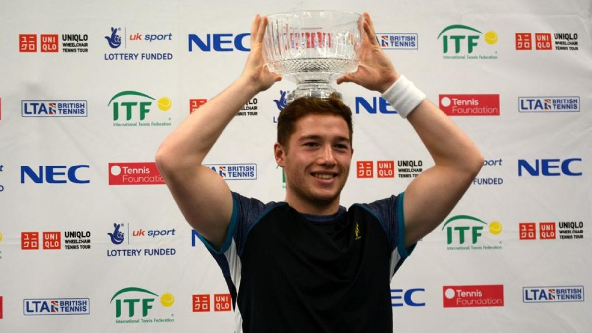
[[[500,95],[485,94],[440,94],[439,106],[447,115],[500,115]]]

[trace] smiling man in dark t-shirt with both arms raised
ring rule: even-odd
[[[242,75],[163,142],[156,161],[176,203],[217,260],[235,305],[237,332],[392,332],[390,280],[414,244],[451,212],[483,164],[474,144],[378,46],[366,38],[358,71],[337,83],[377,90],[406,117],[435,166],[404,193],[345,209],[340,193],[353,148],[351,111],[334,98],[297,99],[278,118],[275,159],[284,202],[230,191],[201,166],[226,125],[281,79],[262,57],[267,20],[255,17]]]

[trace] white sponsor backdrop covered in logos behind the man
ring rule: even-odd
[[[392,280],[395,330],[589,331],[588,0],[2,2],[0,331],[232,331],[223,276],[154,156],[240,74],[256,12],[303,9],[370,12],[397,69],[486,158]],[[294,88],[254,96],[207,156],[231,189],[284,198],[272,145]],[[378,93],[339,90],[355,122],[343,205],[433,166]]]

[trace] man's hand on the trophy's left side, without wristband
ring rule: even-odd
[[[267,17],[255,16],[251,25],[251,51],[241,76],[246,77],[256,88],[257,92],[267,90],[275,82],[282,79],[276,73],[269,72],[263,59],[263,36],[267,27]]]

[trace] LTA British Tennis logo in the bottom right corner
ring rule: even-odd
[[[525,303],[584,302],[584,286],[523,287]]]

